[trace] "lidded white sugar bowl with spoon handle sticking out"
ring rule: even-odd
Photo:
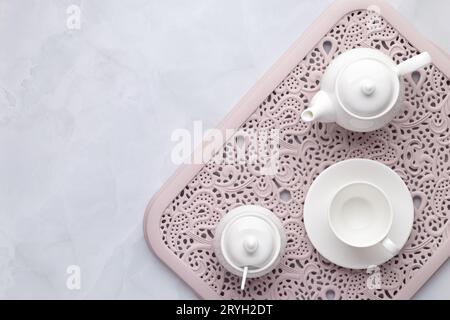
[[[268,209],[246,205],[228,212],[219,222],[214,247],[216,256],[233,274],[262,276],[279,262],[286,244],[280,220]]]

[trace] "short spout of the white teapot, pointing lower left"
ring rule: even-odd
[[[336,116],[330,96],[324,91],[316,93],[311,99],[311,106],[302,112],[301,118],[304,122],[334,122]]]

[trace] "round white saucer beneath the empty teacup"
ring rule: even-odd
[[[393,256],[381,244],[354,248],[340,241],[328,223],[328,204],[332,195],[344,184],[367,181],[388,196],[394,218],[388,237],[399,247],[408,240],[414,221],[411,194],[403,180],[389,167],[367,159],[338,162],[323,171],[312,183],[305,199],[304,223],[311,243],[327,260],[350,269],[366,269],[380,265]]]

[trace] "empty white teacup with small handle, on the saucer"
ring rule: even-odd
[[[400,248],[388,238],[394,212],[386,194],[368,182],[341,187],[328,208],[328,222],[336,237],[356,248],[382,244],[391,254]]]

